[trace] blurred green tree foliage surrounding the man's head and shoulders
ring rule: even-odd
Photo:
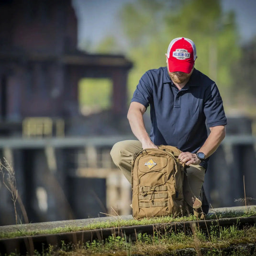
[[[234,13],[224,14],[220,0],[137,0],[121,14],[134,61],[130,74],[130,96],[143,73],[166,65],[170,40],[184,36],[197,45],[196,68],[216,81],[223,98],[231,102],[234,84],[231,65],[240,57]]]

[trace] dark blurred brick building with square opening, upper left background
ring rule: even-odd
[[[0,0],[0,116],[78,115],[78,81],[112,80],[112,112],[126,112],[124,56],[77,50],[77,18],[71,0]]]

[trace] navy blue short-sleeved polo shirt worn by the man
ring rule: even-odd
[[[179,90],[167,67],[147,71],[139,81],[132,102],[150,105],[155,145],[177,146],[196,153],[208,137],[209,127],[226,125],[220,92],[210,78],[194,69],[189,82]],[[207,163],[201,164],[207,167]]]

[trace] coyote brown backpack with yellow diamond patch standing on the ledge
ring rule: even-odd
[[[132,164],[132,206],[134,219],[186,215],[182,184],[184,166],[181,151],[159,146],[140,151]]]

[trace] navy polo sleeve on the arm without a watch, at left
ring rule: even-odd
[[[150,102],[153,99],[153,93],[152,93],[152,82],[149,78],[148,73],[146,72],[142,78],[140,79],[135,91],[133,98],[131,102],[139,102],[145,106],[145,108],[148,107]]]

